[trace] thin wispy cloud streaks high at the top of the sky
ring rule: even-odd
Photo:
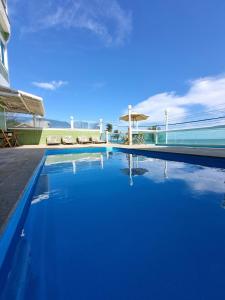
[[[84,29],[106,45],[122,45],[132,31],[131,12],[124,10],[117,0],[46,0],[22,5],[24,1],[14,2],[12,8],[15,11],[15,6],[20,6],[26,9],[23,14],[29,15],[23,33],[51,28]]]

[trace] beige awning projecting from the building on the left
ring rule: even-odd
[[[44,116],[43,99],[22,91],[0,87],[0,106],[7,112]]]

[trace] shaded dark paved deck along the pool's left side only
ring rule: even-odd
[[[44,149],[0,149],[0,234],[43,154]]]

